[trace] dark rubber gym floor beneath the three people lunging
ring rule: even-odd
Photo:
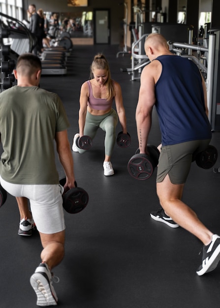
[[[78,186],[89,193],[89,204],[76,215],[65,212],[66,244],[63,262],[54,269],[54,283],[61,308],[207,308],[220,307],[220,265],[198,277],[202,243],[182,228],[172,229],[150,217],[159,207],[156,170],[147,181],[133,179],[127,162],[138,147],[135,108],[139,80],[121,67],[131,67],[130,55],[116,57],[118,46],[74,46],[66,76],[42,76],[40,87],[57,92],[63,100],[70,128],[70,145],[78,132],[79,93],[89,79],[97,52],[107,57],[112,78],[122,87],[131,145],[115,146],[115,175],[103,175],[104,132],[99,130],[93,147],[85,154],[73,153]],[[117,133],[121,131],[118,124]],[[160,143],[157,114],[149,143]],[[220,132],[211,144],[219,149]],[[36,144],[36,147],[40,145]],[[218,159],[216,167],[219,167]],[[60,178],[63,169],[57,160]],[[184,201],[204,224],[220,234],[220,174],[192,163]],[[29,283],[40,263],[41,244],[37,231],[31,237],[17,234],[19,212],[8,195],[0,209],[0,307],[34,308],[36,295]]]

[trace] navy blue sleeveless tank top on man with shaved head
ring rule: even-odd
[[[192,61],[166,55],[155,85],[156,108],[162,145],[211,138],[211,125],[205,113],[201,74]]]

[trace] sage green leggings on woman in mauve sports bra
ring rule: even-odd
[[[115,146],[116,126],[118,121],[118,115],[114,109],[103,116],[93,116],[87,111],[84,135],[90,136],[93,140],[100,127],[105,131],[105,155],[111,156]],[[86,152],[86,150],[82,149],[78,149],[78,151],[81,154]]]

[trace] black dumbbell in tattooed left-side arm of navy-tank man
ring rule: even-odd
[[[129,174],[136,180],[149,179],[159,160],[159,150],[154,145],[147,145],[149,155],[140,154],[139,149],[130,158],[127,164],[127,170]]]

